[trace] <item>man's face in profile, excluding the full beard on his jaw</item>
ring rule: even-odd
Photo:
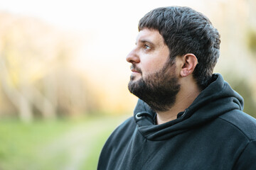
[[[132,63],[131,79],[136,81],[157,72],[169,58],[169,48],[158,30],[143,29],[139,31],[136,46],[127,55],[127,62]]]

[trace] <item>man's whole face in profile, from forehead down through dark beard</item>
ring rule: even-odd
[[[129,91],[155,111],[167,111],[180,89],[176,65],[169,61],[169,48],[158,30],[139,31],[136,46],[127,56],[132,63]]]

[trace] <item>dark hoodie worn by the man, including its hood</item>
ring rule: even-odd
[[[256,120],[220,74],[177,118],[154,125],[156,113],[140,100],[134,117],[112,132],[101,169],[256,169]]]

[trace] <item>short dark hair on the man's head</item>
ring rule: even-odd
[[[139,21],[139,30],[144,28],[159,30],[169,47],[170,62],[176,56],[196,55],[193,78],[201,89],[208,85],[220,55],[220,35],[206,16],[188,7],[156,8]]]

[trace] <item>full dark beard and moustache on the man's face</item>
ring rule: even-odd
[[[136,68],[132,64],[134,69]],[[176,65],[175,62],[166,62],[164,67],[158,72],[149,74],[134,81],[135,77],[132,75],[128,84],[129,91],[146,102],[154,111],[163,112],[168,111],[176,101],[176,95],[181,89],[178,84],[178,78],[175,76]]]

